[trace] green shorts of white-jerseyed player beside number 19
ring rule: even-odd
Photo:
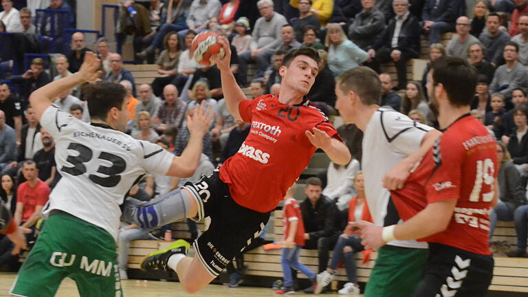
[[[428,249],[384,245],[377,251],[364,297],[411,297],[421,281],[428,255]]]

